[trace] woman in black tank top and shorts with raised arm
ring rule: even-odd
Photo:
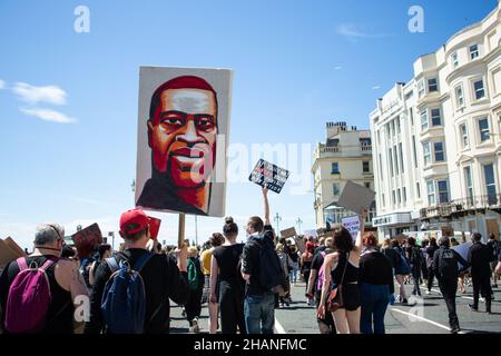
[[[341,307],[333,312],[334,323],[338,334],[360,334],[361,301],[358,294],[358,264],[362,253],[362,236],[367,209],[360,214],[360,231],[353,243],[352,235],[344,227],[334,231],[336,251],[325,256],[325,278],[322,287],[321,303],[317,309],[320,318],[326,313],[326,300],[331,286],[341,287]],[[338,289],[340,290],[340,289]]]

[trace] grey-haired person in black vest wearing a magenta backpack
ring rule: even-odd
[[[1,325],[6,333],[71,334],[80,322],[73,317],[75,301],[88,297],[87,288],[77,265],[59,258],[63,236],[65,229],[58,224],[38,226],[33,254],[6,266],[0,276]]]

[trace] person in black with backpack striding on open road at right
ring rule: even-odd
[[[458,277],[461,270],[469,268],[470,264],[455,250],[450,248],[451,241],[448,236],[440,238],[440,248],[433,254],[431,269],[439,280],[439,288],[449,310],[449,325],[451,333],[458,334],[461,328],[455,313],[455,293],[458,290]],[[461,270],[458,264],[462,265]]]

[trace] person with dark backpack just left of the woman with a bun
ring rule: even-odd
[[[189,332],[198,334],[200,327],[198,318],[202,313],[202,294],[204,290],[204,273],[202,271],[198,249],[195,246],[188,247],[188,301],[185,304],[186,319],[189,324]]]

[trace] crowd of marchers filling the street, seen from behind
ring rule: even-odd
[[[222,233],[214,233],[203,248],[168,248],[153,240],[141,209],[121,215],[119,251],[105,244],[85,258],[65,246],[62,226],[43,224],[37,228],[33,253],[11,261],[0,275],[0,330],[168,333],[171,300],[183,306],[190,333],[200,332],[206,307],[210,334],[273,334],[275,309],[289,307],[299,280],[306,304],[315,306],[321,334],[384,334],[389,305],[412,303],[405,285],[412,284],[412,295],[421,296],[422,288],[432,293],[435,279],[451,333],[461,330],[455,297],[468,280],[473,287],[471,310],[479,310],[482,297],[487,313],[492,312],[492,288],[501,274],[494,235],[482,244],[481,235],[473,234],[466,258],[448,236],[421,246],[412,237],[379,244],[365,233],[364,209],[356,239],[338,226],[317,241],[305,238],[301,246],[276,237],[266,188],[263,201],[264,218],[248,218],[245,244],[237,243],[240,229],[227,217]]]

